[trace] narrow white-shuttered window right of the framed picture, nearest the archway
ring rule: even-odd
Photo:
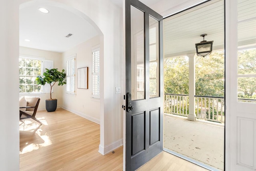
[[[100,98],[100,48],[92,50],[92,97]]]

